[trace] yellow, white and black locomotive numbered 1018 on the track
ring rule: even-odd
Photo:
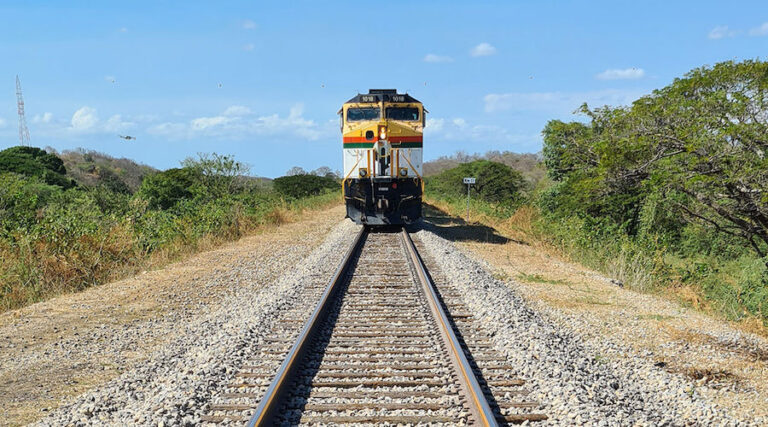
[[[427,112],[419,100],[396,89],[370,89],[342,105],[347,218],[369,226],[421,218]]]

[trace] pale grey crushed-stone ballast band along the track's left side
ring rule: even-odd
[[[39,425],[195,425],[217,386],[239,368],[310,276],[330,277],[358,227],[339,223],[307,258],[285,266],[275,283],[242,289],[220,308],[178,324],[178,339],[102,387],[59,408]],[[253,269],[255,270],[255,268]],[[244,269],[240,280],[253,271]],[[307,311],[312,307],[307,307]]]

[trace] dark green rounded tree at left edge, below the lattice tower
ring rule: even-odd
[[[37,177],[49,185],[62,188],[74,186],[67,179],[64,162],[54,154],[36,147],[11,147],[0,151],[0,172],[15,172],[21,175]]]

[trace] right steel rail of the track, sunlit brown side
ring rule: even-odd
[[[469,360],[467,360],[467,356],[464,354],[461,343],[451,327],[448,315],[440,304],[437,291],[435,290],[435,284],[432,283],[429,274],[427,274],[424,262],[419,256],[419,252],[416,250],[416,245],[413,244],[413,240],[411,240],[411,236],[408,234],[405,227],[403,227],[402,237],[408,255],[416,268],[416,275],[419,277],[419,281],[424,289],[424,294],[429,301],[429,307],[432,309],[432,314],[434,314],[435,320],[440,326],[440,332],[448,347],[451,360],[459,374],[459,382],[461,383],[465,394],[471,397],[470,407],[473,415],[480,425],[498,426],[499,424],[496,421],[496,415],[491,409],[488,400],[485,398],[485,393],[472,371],[472,366],[469,364]]]

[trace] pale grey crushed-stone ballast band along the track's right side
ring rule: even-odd
[[[707,402],[693,382],[608,340],[581,339],[579,324],[556,324],[536,312],[490,267],[434,233],[414,235],[444,276],[464,291],[467,307],[496,347],[527,380],[530,397],[542,403],[547,423],[594,425],[760,425],[737,420]],[[439,284],[438,284],[439,286]],[[602,357],[596,355],[602,355]]]

